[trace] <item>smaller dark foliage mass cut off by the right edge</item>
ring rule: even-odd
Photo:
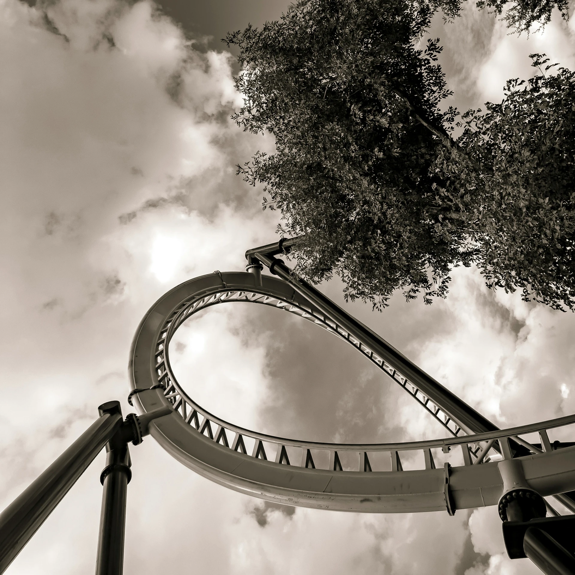
[[[538,75],[508,81],[501,104],[463,116],[459,144],[492,173],[450,183],[475,189],[470,236],[488,285],[573,309],[575,73],[549,74],[548,59],[531,57]]]

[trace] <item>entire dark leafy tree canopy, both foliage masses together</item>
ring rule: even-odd
[[[430,302],[454,266],[478,263],[492,287],[573,308],[572,72],[508,83],[500,105],[463,114],[454,140],[439,40],[416,48],[438,7],[302,0],[229,34],[242,66],[235,119],[276,145],[239,171],[263,183],[286,235],[305,235],[298,273],[335,272],[346,297],[381,308],[401,289]]]

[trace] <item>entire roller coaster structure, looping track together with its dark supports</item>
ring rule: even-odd
[[[575,513],[568,493],[575,490],[575,444],[552,446],[547,435],[550,429],[574,424],[575,415],[497,429],[274,257],[297,241],[248,250],[250,273],[215,271],[191,279],[152,306],[137,328],[129,359],[128,402],[136,401],[140,415],[129,413],[122,421],[120,402],[102,404],[99,419],[85,434],[0,513],[0,573],[105,446],[96,573],[121,575],[132,476],[128,443],[138,445],[150,434],[202,476],[290,505],[371,513],[446,509],[450,515],[457,509],[498,505],[509,557],[529,557],[549,575],[575,575],[575,515],[558,516],[543,499],[553,495]],[[262,275],[262,263],[281,279]],[[174,377],[170,341],[194,314],[237,301],[283,309],[344,340],[452,437],[410,443],[306,442],[250,431],[206,411]],[[537,443],[525,437],[533,434]]]

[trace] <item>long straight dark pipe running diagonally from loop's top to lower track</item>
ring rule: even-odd
[[[444,388],[438,381],[425,373],[414,363],[409,361],[389,343],[381,339],[376,333],[367,328],[360,321],[345,312],[323,293],[310,285],[302,278],[291,273],[289,267],[281,260],[275,259],[265,253],[255,252],[253,256],[269,267],[271,273],[278,275],[289,283],[298,293],[308,298],[317,308],[333,321],[341,325],[354,338],[359,340],[367,348],[377,354],[381,359],[390,363],[393,367],[407,377],[421,390],[425,396],[438,405],[442,411],[451,417],[468,434],[478,434],[486,431],[496,431],[498,428],[481,413],[475,411],[464,401]]]

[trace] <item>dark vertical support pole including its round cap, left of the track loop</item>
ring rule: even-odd
[[[122,414],[120,402],[109,401],[100,413]],[[118,432],[106,444],[106,467],[100,481],[104,485],[98,537],[96,575],[122,575],[124,570],[124,534],[126,499],[132,478],[131,461],[125,435]]]

